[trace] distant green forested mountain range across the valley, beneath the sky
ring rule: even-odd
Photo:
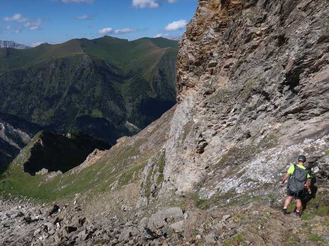
[[[175,104],[177,42],[109,36],[0,49],[0,112],[114,143]]]

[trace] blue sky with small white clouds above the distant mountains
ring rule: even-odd
[[[0,0],[0,40],[36,46],[104,35],[174,38],[197,0]]]

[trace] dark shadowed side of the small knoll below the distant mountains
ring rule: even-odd
[[[23,152],[29,156],[22,163],[24,172],[30,175],[43,175],[48,172],[64,173],[80,165],[92,165],[99,150],[110,148],[105,141],[82,132],[68,133],[67,136],[41,131],[36,134]],[[93,151],[94,150],[94,151]],[[93,152],[93,153],[91,153]],[[90,154],[91,153],[91,154]]]

